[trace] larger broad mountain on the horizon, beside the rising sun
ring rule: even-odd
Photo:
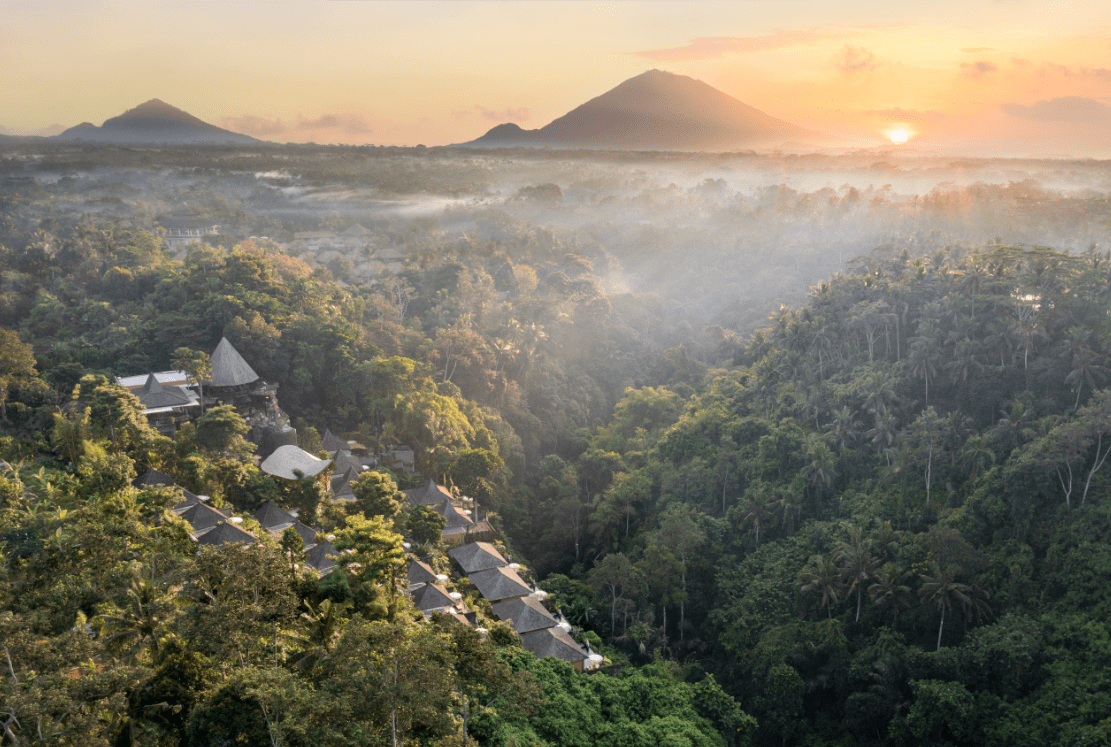
[[[649,70],[539,130],[499,124],[463,146],[737,150],[833,139],[770,117],[687,76]]]

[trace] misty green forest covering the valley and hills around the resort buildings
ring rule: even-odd
[[[1095,160],[3,143],[0,745],[1107,744],[1109,246]],[[339,500],[113,378],[224,338],[301,449],[413,469]]]

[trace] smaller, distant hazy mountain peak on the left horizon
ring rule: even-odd
[[[119,117],[104,120],[100,127],[82,122],[57,136],[59,140],[132,143],[240,143],[259,142],[254,138],[209,124],[189,112],[151,99]]]

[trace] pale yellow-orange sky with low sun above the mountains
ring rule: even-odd
[[[159,98],[267,140],[444,145],[651,68],[851,142],[1111,157],[1107,0],[6,0],[0,131]]]

